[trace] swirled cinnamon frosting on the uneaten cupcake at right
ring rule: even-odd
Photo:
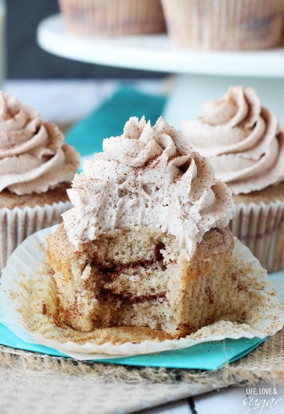
[[[181,128],[233,194],[284,180],[284,133],[253,88],[229,88],[221,100],[203,104],[203,116]]]

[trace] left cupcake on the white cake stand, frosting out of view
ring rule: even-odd
[[[59,0],[67,29],[79,35],[165,31],[160,0]]]

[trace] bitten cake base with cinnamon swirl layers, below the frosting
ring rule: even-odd
[[[47,252],[61,322],[87,332],[119,326],[175,338],[194,332],[216,318],[233,246],[227,228],[211,229],[189,262],[176,237],[133,226],[103,233],[79,252],[60,225]]]

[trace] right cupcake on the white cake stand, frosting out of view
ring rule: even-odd
[[[282,0],[162,0],[176,48],[267,49],[282,39]]]

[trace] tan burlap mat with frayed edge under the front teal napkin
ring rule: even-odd
[[[0,375],[0,413],[132,413],[231,385],[284,384],[284,329],[214,371],[78,362],[1,346]]]

